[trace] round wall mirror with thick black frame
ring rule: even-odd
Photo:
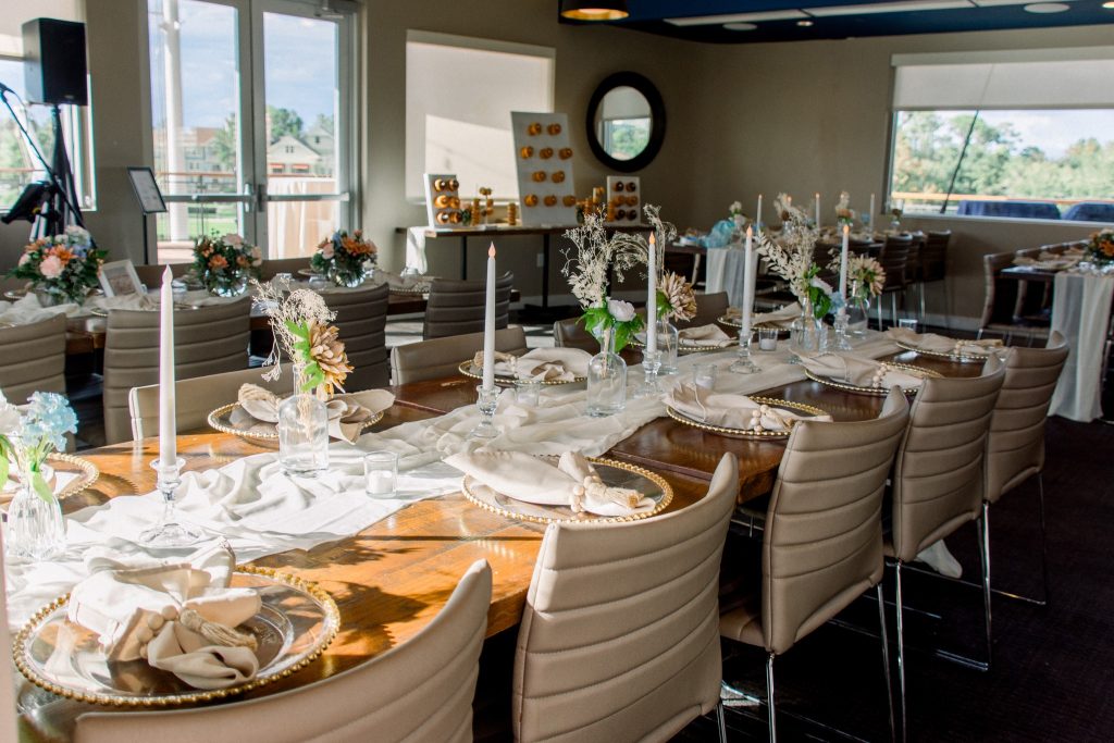
[[[633,173],[647,165],[665,138],[662,94],[637,72],[615,72],[588,101],[588,145],[613,170]]]

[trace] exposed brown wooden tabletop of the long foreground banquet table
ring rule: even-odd
[[[913,356],[902,353],[893,359],[908,363]],[[979,364],[927,356],[918,356],[915,362],[954,377],[980,371]],[[391,388],[395,404],[377,430],[472,403],[475,383],[452,377]],[[882,401],[811,381],[779,385],[764,394],[822,407],[836,420],[873,417]],[[115,496],[152,491],[155,476],[150,461],[157,450],[157,440],[147,439],[82,452],[99,468],[100,479],[90,489],[66,499],[67,512]],[[187,470],[212,469],[263,451],[236,437],[212,431],[178,437],[178,453],[185,458]],[[658,418],[613,447],[607,456],[662,475],[674,489],[672,510],[703,496],[720,457],[727,451],[740,459],[740,501],[770,490],[784,451],[783,441],[724,438]],[[511,629],[521,616],[543,532],[540,525],[481,510],[457,492],[413,502],[354,537],[256,560],[253,565],[320,583],[340,607],[341,632],[324,655],[306,668],[244,696],[309,684],[404,643],[437,615],[460,576],[480,558],[487,559],[494,571],[488,635]],[[20,715],[21,740],[67,741],[76,717],[98,708],[51,697],[27,682],[22,682],[18,694],[30,703]]]

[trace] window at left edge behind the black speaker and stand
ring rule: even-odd
[[[79,21],[85,18],[84,4],[80,0],[4,0],[4,11],[0,13],[0,82],[14,91],[16,95],[8,95],[8,100],[47,162],[50,160],[53,147],[50,107],[27,102],[22,25],[35,18]],[[23,105],[20,105],[16,96],[19,96]],[[81,208],[94,208],[96,203],[89,108],[62,106],[61,123],[78,201]],[[46,173],[39,158],[12,120],[11,111],[0,105],[0,212],[7,211],[14,203],[27,184],[42,178],[46,178]]]

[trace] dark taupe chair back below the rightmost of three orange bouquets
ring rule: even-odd
[[[333,324],[344,341],[344,351],[353,370],[344,380],[344,390],[359,392],[390,383],[387,362],[387,304],[391,287],[336,289],[321,292],[325,304],[336,313]]]

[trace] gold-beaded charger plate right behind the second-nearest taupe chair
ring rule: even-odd
[[[547,457],[556,462],[556,458]],[[614,524],[619,521],[638,521],[656,516],[665,510],[673,500],[673,488],[662,477],[649,470],[613,459],[588,458],[605,485],[618,488],[633,488],[654,501],[654,508],[643,514],[631,516],[596,516],[594,514],[576,514],[568,506],[541,506],[518,500],[511,496],[496,492],[491,488],[477,482],[466,475],[461,489],[465,497],[480,508],[522,521],[535,524],[565,524],[569,521],[595,521]]]

